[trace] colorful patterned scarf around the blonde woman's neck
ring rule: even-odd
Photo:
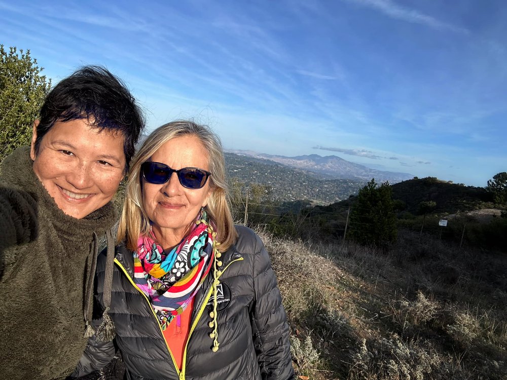
[[[153,229],[137,242],[134,283],[150,299],[163,330],[187,308],[211,269],[213,236],[206,219],[203,211],[190,234],[168,253]]]

